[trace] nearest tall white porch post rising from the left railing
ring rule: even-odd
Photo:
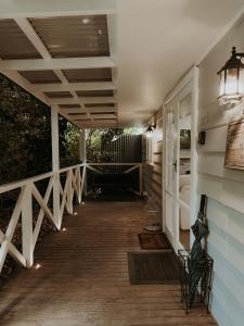
[[[61,227],[60,216],[60,148],[59,148],[59,113],[51,109],[51,128],[52,128],[52,171],[53,171],[53,216]]]

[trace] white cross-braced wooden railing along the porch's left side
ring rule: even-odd
[[[61,175],[65,176],[64,187],[62,187],[61,184]],[[64,210],[66,209],[69,214],[73,213],[74,196],[76,195],[78,202],[81,202],[85,178],[86,164],[78,164],[62,168],[57,172],[50,172],[0,186],[0,193],[20,189],[20,196],[13,209],[7,230],[3,233],[0,229],[0,273],[8,253],[23,266],[31,267],[34,263],[34,250],[44,216],[60,230]],[[47,180],[48,183],[43,197],[36,185],[40,180]],[[49,200],[51,193],[53,193],[53,198],[50,208]],[[40,206],[35,227],[33,226],[33,199],[35,199]],[[12,238],[20,218],[22,218],[22,252],[12,243]]]

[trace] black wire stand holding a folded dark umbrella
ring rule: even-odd
[[[207,197],[202,195],[198,216],[192,231],[195,236],[191,251],[179,250],[181,279],[181,300],[185,302],[187,313],[193,306],[205,305],[209,311],[211,290],[213,259],[206,252],[208,226],[206,220]]]

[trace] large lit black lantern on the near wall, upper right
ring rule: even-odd
[[[224,66],[218,72],[220,77],[219,102],[220,104],[236,104],[244,98],[244,53],[239,53],[232,48],[232,55]]]

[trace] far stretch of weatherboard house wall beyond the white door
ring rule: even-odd
[[[143,136],[143,191],[151,198],[150,210],[157,211],[157,220],[162,216],[162,148],[163,148],[163,118],[159,109],[153,121],[156,122],[156,130],[153,133],[151,162],[146,161],[146,137]]]

